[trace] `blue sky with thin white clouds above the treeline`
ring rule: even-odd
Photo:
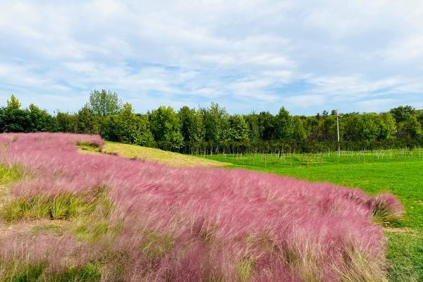
[[[423,108],[423,1],[0,1],[0,106]]]

